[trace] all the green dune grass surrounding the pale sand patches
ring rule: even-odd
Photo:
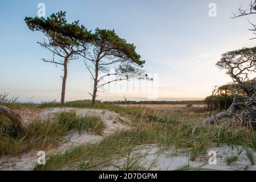
[[[14,104],[15,105],[15,104]],[[45,166],[36,166],[36,170],[76,169],[91,170],[111,166],[113,159],[126,156],[127,163],[119,169],[141,169],[139,158],[131,156],[135,146],[156,144],[163,150],[176,147],[190,155],[190,160],[196,160],[204,155],[209,147],[222,144],[250,147],[256,149],[256,134],[246,127],[227,125],[204,126],[202,121],[209,113],[205,110],[187,107],[182,110],[168,110],[165,112],[147,109],[145,107],[121,107],[90,101],[46,102],[32,107],[42,109],[47,107],[80,107],[115,111],[132,119],[132,129],[116,131],[101,142],[85,144],[66,151],[64,154],[47,156]],[[0,117],[1,121],[1,117]],[[6,122],[3,122],[6,123]],[[0,125],[1,122],[0,122]],[[98,117],[81,117],[72,113],[60,113],[55,122],[35,122],[30,130],[17,132],[12,126],[0,126],[1,154],[18,154],[19,151],[31,148],[45,148],[58,144],[70,130],[87,131],[102,134],[104,123]],[[26,136],[26,137],[25,137]],[[254,159],[247,152],[249,160]],[[142,156],[141,156],[142,157]],[[235,157],[226,159],[227,163],[235,161]]]

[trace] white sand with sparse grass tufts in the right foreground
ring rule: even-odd
[[[237,171],[237,170],[250,170],[255,171],[256,165],[251,166],[250,161],[247,159],[246,152],[243,151],[239,157],[237,162],[227,165],[225,159],[227,156],[238,155],[237,148],[242,148],[239,146],[234,146],[233,148],[229,146],[221,146],[216,148],[209,148],[209,151],[216,151],[217,153],[217,164],[209,164],[210,156],[200,156],[196,159],[196,161],[189,160],[189,153],[181,150],[176,150],[176,148],[172,147],[168,151],[161,152],[159,147],[154,145],[152,146],[137,146],[135,147],[132,155],[129,156],[130,163],[132,158],[136,156],[141,156],[137,166],[141,166],[140,169],[146,170],[176,170],[180,169],[184,166],[189,166],[191,168],[197,168],[200,170],[221,170],[221,171]],[[254,156],[256,156],[256,152],[254,152]],[[118,160],[113,160],[110,167],[105,167],[106,170],[117,170],[119,168],[123,168],[123,166],[127,163],[128,158],[122,158]],[[256,159],[255,159],[256,160]],[[118,166],[119,168],[117,168]],[[135,165],[136,166],[136,165]]]

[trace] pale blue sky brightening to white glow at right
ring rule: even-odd
[[[148,73],[159,74],[159,99],[204,98],[214,85],[230,78],[216,68],[221,53],[255,46],[247,19],[231,19],[231,12],[249,0],[123,0],[123,1],[1,1],[0,2],[0,92],[22,101],[59,100],[62,68],[43,63],[52,55],[36,42],[40,32],[31,32],[25,16],[36,16],[38,3],[45,3],[46,16],[63,10],[68,21],[76,19],[90,30],[115,29],[136,45],[146,60]],[[217,16],[208,15],[216,3]],[[81,60],[68,68],[67,100],[88,99],[92,81]],[[145,94],[126,94],[128,99],[147,100]],[[98,99],[122,100],[123,94],[100,93]]]

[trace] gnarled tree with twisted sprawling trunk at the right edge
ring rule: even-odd
[[[243,124],[256,123],[256,80],[250,76],[256,73],[256,47],[243,48],[237,51],[224,53],[216,64],[218,68],[226,69],[227,74],[234,80],[237,90],[242,89],[246,93],[246,99],[236,100],[229,109],[205,119],[206,124],[216,123],[224,117],[239,119]],[[239,112],[239,110],[242,110]]]

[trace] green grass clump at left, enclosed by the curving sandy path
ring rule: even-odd
[[[105,129],[99,117],[80,117],[75,113],[60,113],[56,121],[32,121],[19,130],[3,116],[0,116],[0,121],[0,155],[11,156],[56,146],[63,142],[70,130],[100,135]]]

